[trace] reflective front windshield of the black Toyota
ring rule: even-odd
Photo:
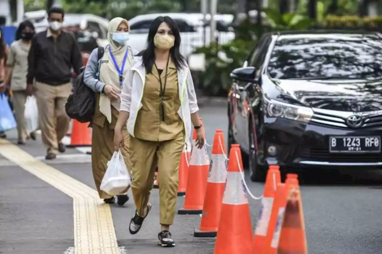
[[[281,37],[267,72],[275,79],[379,79],[382,39],[359,34]]]

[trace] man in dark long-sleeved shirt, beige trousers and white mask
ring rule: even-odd
[[[65,152],[61,142],[70,119],[65,103],[71,93],[71,68],[76,74],[82,56],[74,35],[61,30],[64,10],[52,7],[48,12],[49,28],[36,34],[28,55],[27,93],[36,91],[42,142],[47,147],[45,159],[55,159]]]

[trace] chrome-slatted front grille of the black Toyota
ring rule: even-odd
[[[330,125],[333,127],[342,127],[342,128],[350,128],[346,124],[346,118],[353,115],[352,112],[338,112],[331,110],[320,110],[314,111],[311,122],[322,124],[322,125]],[[379,127],[382,126],[382,113],[362,113],[364,116],[364,124],[361,128],[369,128],[369,127]],[[340,116],[341,115],[341,116]]]

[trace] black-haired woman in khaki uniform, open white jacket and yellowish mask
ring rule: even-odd
[[[134,57],[134,66],[126,76],[121,92],[121,108],[115,126],[115,150],[123,148],[122,131],[127,121],[130,134],[130,159],[136,212],[129,230],[136,234],[151,209],[149,197],[158,166],[160,196],[160,232],[162,247],[175,246],[170,233],[177,192],[179,160],[197,130],[197,146],[204,138],[193,80],[180,54],[180,33],[170,17],[156,18],[149,28],[147,48]]]

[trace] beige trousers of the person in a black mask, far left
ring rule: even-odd
[[[17,123],[17,139],[18,141],[25,141],[29,133],[26,132],[25,124],[25,102],[26,93],[24,91],[12,91],[13,93],[13,109],[15,110],[15,118]]]

